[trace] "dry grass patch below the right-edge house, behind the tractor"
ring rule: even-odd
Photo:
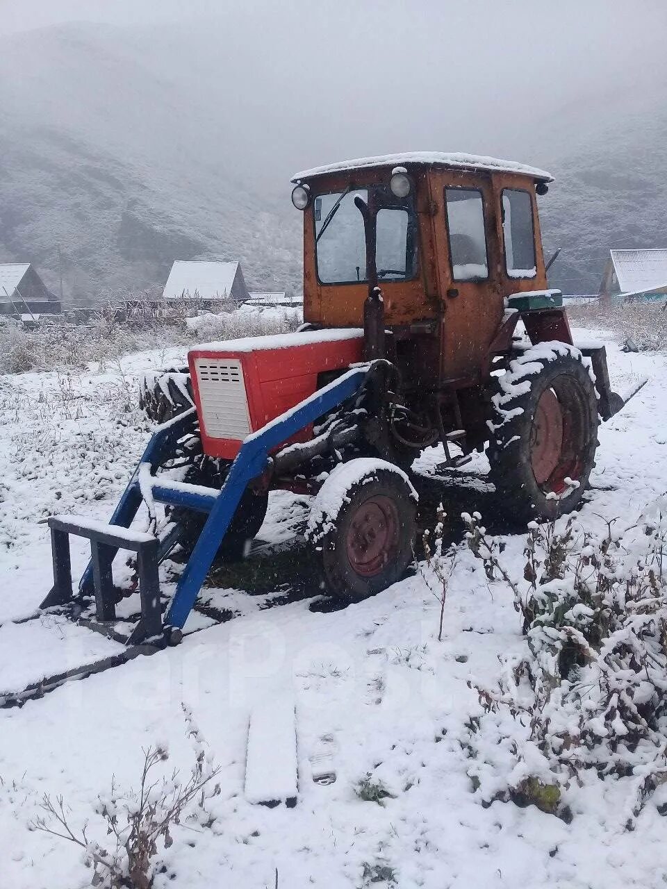
[[[599,303],[567,308],[577,327],[613,331],[618,339],[630,338],[638,348],[667,348],[667,300],[653,302]]]

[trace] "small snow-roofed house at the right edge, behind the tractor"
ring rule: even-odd
[[[667,250],[610,250],[601,299],[667,299]]]

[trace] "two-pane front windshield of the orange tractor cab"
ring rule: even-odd
[[[364,220],[354,203],[360,197],[375,213],[375,261],[380,281],[406,281],[416,271],[416,219],[411,196],[394,197],[388,188],[349,188],[315,198],[317,276],[322,284],[366,281]]]

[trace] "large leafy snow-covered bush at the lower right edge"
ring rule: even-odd
[[[480,557],[484,537],[473,519]],[[666,540],[667,497],[625,529],[529,526],[525,592],[512,586],[527,651],[502,662],[497,688],[478,688],[484,715],[470,725],[486,800],[557,811],[561,790],[594,770],[633,777],[636,814],[667,781]]]

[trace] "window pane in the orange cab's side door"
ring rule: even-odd
[[[477,188],[446,188],[449,257],[454,281],[488,277],[484,202]]]

